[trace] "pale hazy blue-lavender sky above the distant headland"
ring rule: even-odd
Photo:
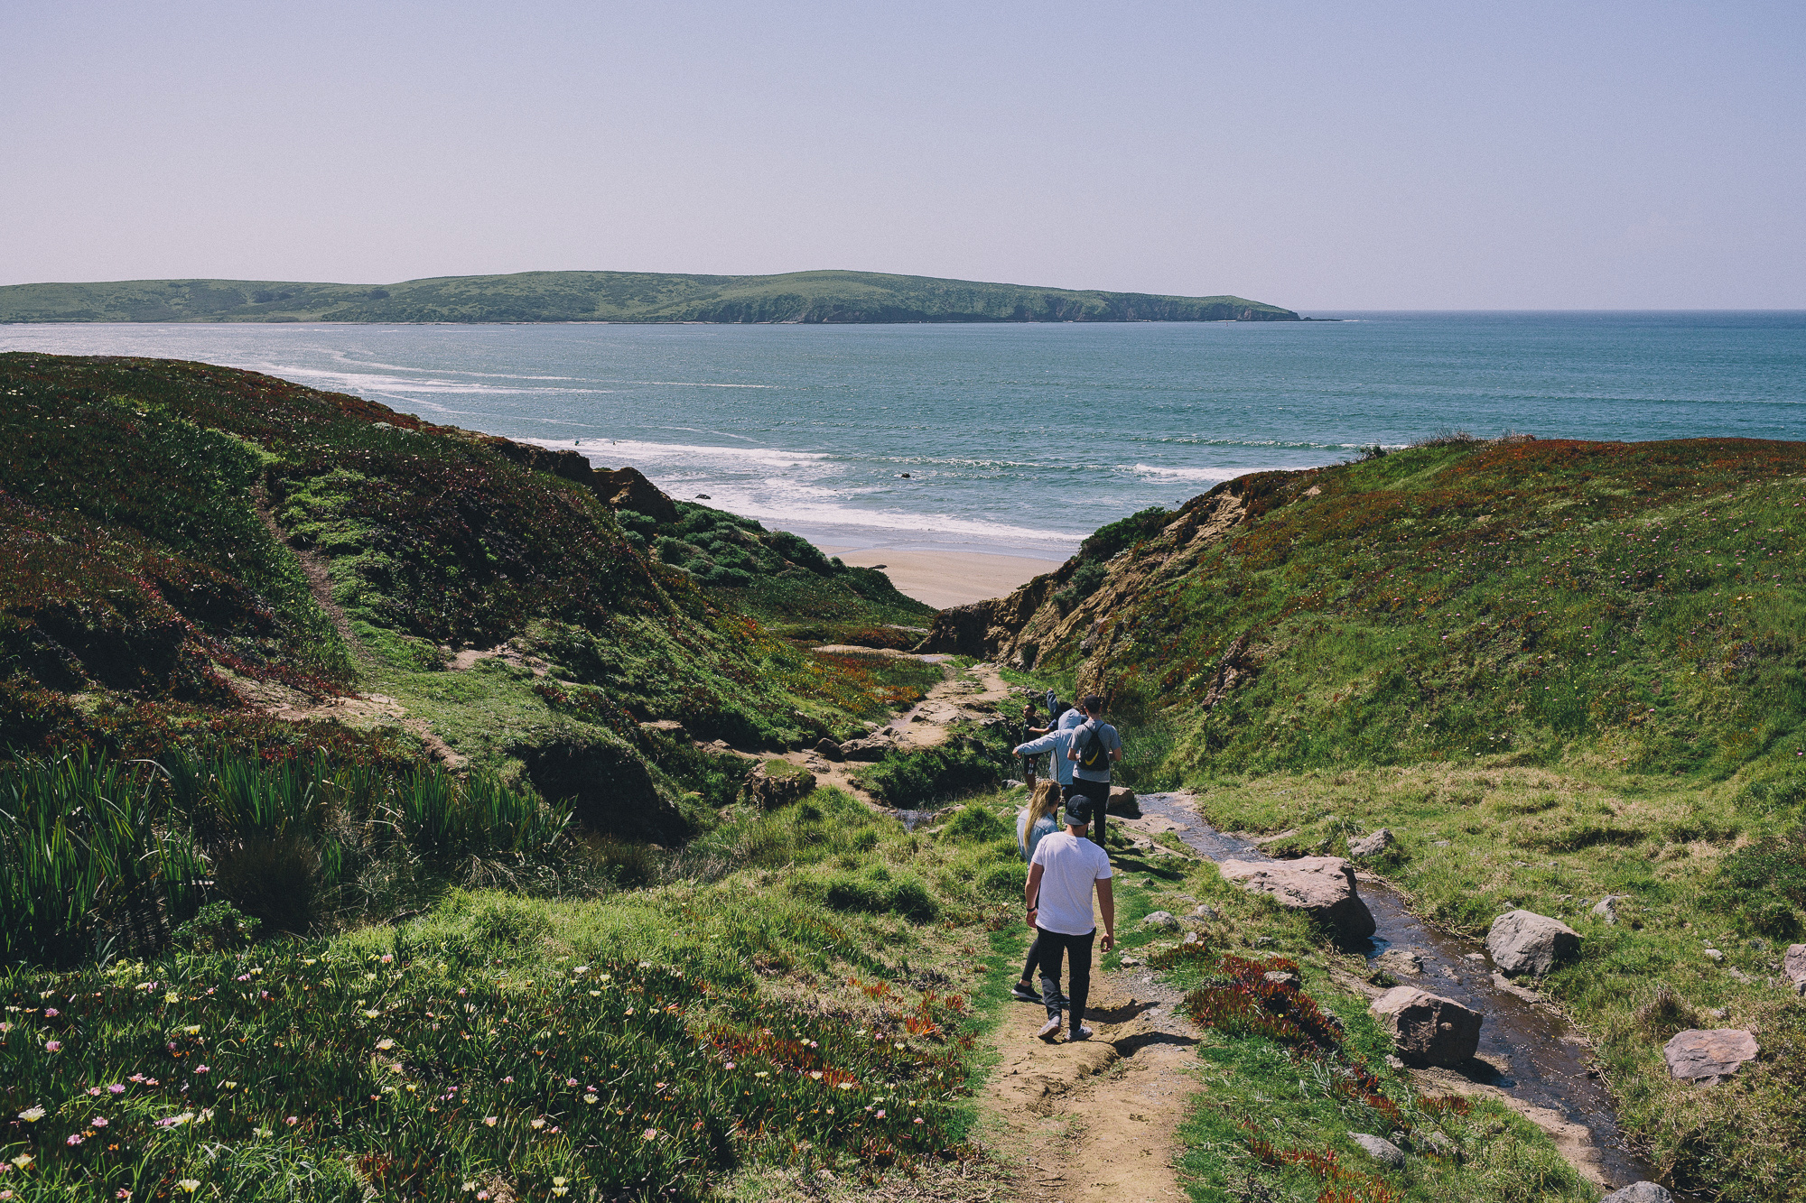
[[[0,284],[1806,307],[1806,4],[0,4]]]

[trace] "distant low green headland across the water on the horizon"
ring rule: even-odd
[[[117,280],[0,287],[0,322],[1297,322],[1243,296],[1156,296],[876,271],[522,271],[401,284]]]

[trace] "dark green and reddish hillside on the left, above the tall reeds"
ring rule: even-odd
[[[744,567],[672,567],[607,504],[621,473],[251,372],[14,354],[0,399],[14,746],[424,748],[679,838],[733,782],[645,724],[784,748],[885,713],[737,594],[829,634],[925,609],[719,511],[684,520]]]

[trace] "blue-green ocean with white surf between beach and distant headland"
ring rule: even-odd
[[[840,547],[1064,558],[1262,468],[1447,430],[1806,437],[1806,312],[1131,325],[5,325],[632,464]]]

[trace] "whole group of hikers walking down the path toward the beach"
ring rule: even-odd
[[[1028,860],[1028,925],[1035,939],[1022,963],[1022,979],[1011,995],[1047,1008],[1047,1022],[1037,1033],[1049,1044],[1060,1039],[1062,1017],[1069,1015],[1069,1037],[1091,1039],[1084,1024],[1091,992],[1091,948],[1098,925],[1091,910],[1096,889],[1103,914],[1103,952],[1116,943],[1116,900],[1111,894],[1111,858],[1103,851],[1103,813],[1111,800],[1111,764],[1122,759],[1123,741],[1103,721],[1103,697],[1093,694],[1076,706],[1066,706],[1047,690],[1047,726],[1037,728],[1035,703],[1022,710],[1024,735],[1015,755],[1028,766],[1029,804],[1017,815],[1017,844]],[[1049,759],[1049,773],[1037,780],[1035,759]],[[1055,815],[1066,807],[1066,825]],[[1060,965],[1069,966],[1071,995],[1060,993]],[[1040,992],[1029,981],[1040,974]]]

